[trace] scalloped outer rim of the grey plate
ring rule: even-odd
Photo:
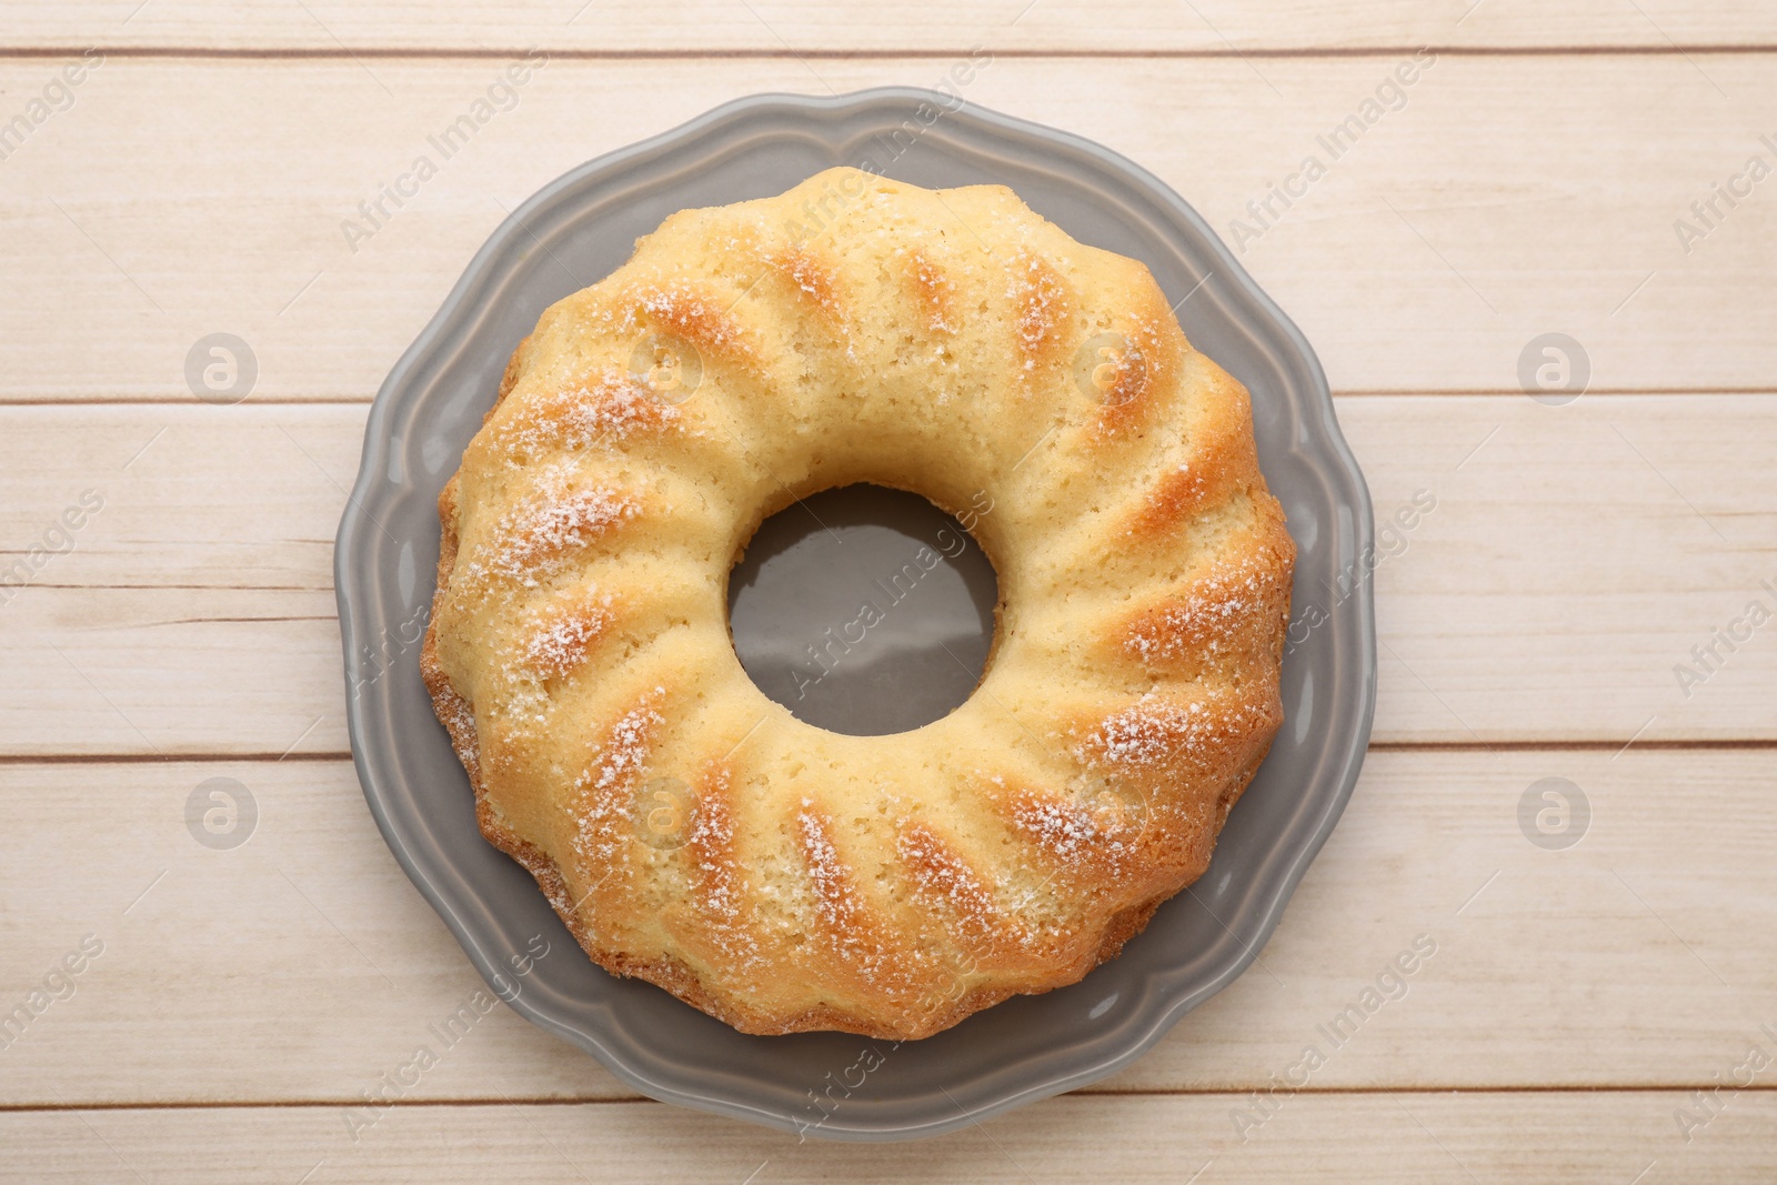
[[[679,124],[677,128],[578,165],[544,185],[496,227],[451,286],[439,311],[428,320],[426,327],[391,368],[366,419],[361,467],[357,481],[354,483],[352,494],[347,501],[347,508],[341,515],[334,551],[341,645],[345,647],[347,656],[347,718],[352,737],[352,760],[364,789],[366,803],[396,862],[414,881],[416,888],[419,888],[428,904],[432,904],[432,908],[444,920],[451,934],[464,947],[471,963],[476,966],[478,974],[489,981],[489,986],[494,986],[494,977],[501,974],[501,963],[483,949],[482,936],[471,927],[471,922],[458,908],[460,899],[446,892],[446,888],[434,878],[432,869],[416,858],[409,847],[409,840],[412,837],[402,830],[396,819],[391,817],[387,805],[382,799],[379,771],[371,766],[371,755],[366,753],[366,748],[370,746],[368,737],[373,736],[370,721],[366,720],[368,709],[352,695],[354,654],[363,632],[359,629],[363,624],[361,613],[354,595],[357,593],[357,574],[352,569],[352,560],[359,537],[364,533],[363,524],[370,519],[366,505],[377,497],[375,487],[379,485],[379,476],[389,471],[391,455],[398,455],[393,448],[396,437],[391,433],[391,421],[407,426],[419,410],[418,400],[410,398],[403,407],[396,407],[396,400],[403,391],[412,387],[412,380],[423,373],[425,366],[442,364],[441,355],[448,357],[448,345],[444,339],[451,334],[451,330],[458,329],[466,322],[473,322],[478,313],[485,311],[487,302],[476,300],[476,291],[482,286],[498,288],[501,279],[512,279],[512,243],[517,242],[521,235],[531,235],[528,229],[528,219],[546,213],[554,206],[554,203],[572,201],[586,185],[622,179],[626,169],[633,165],[665,156],[673,149],[693,149],[698,146],[700,139],[718,133],[730,124],[743,124],[748,119],[759,121],[761,117],[773,114],[789,119],[807,117],[810,112],[844,115],[851,110],[867,108],[878,103],[938,103],[947,107],[944,119],[956,121],[958,124],[974,124],[976,131],[986,130],[1000,137],[1020,140],[1025,146],[1041,144],[1052,151],[1066,149],[1068,155],[1088,160],[1102,172],[1118,176],[1118,179],[1141,197],[1194,231],[1196,242],[1192,247],[1199,251],[1207,249],[1215,258],[1219,265],[1217,270],[1235,284],[1235,291],[1231,295],[1239,297],[1247,306],[1247,313],[1253,313],[1260,322],[1265,322],[1267,329],[1281,334],[1285,345],[1294,355],[1292,361],[1303,368],[1304,378],[1311,387],[1311,400],[1308,405],[1290,403],[1295,423],[1306,425],[1310,432],[1306,435],[1297,433],[1288,448],[1288,453],[1304,464],[1306,469],[1313,471],[1322,483],[1335,496],[1338,496],[1335,505],[1347,506],[1356,512],[1351,524],[1354,537],[1349,540],[1351,545],[1347,551],[1363,554],[1365,549],[1374,545],[1374,521],[1368,489],[1361,469],[1358,467],[1356,457],[1351,453],[1351,448],[1338,428],[1331,391],[1327,389],[1319,359],[1315,357],[1306,338],[1251,279],[1251,275],[1246,274],[1235,256],[1228,251],[1226,243],[1223,243],[1201,215],[1196,213],[1196,210],[1192,210],[1157,176],[1125,156],[1095,144],[1093,140],[1027,119],[992,112],[974,103],[949,107],[951,101],[945,99],[945,96],[919,87],[874,87],[832,98],[782,92],[737,98],[714,107],[709,112]],[[777,128],[777,133],[784,135],[785,128]],[[501,259],[505,259],[505,265],[501,265]],[[1246,322],[1249,318],[1237,320]],[[407,492],[412,492],[410,485],[405,489]],[[1343,752],[1338,755],[1336,767],[1320,775],[1322,778],[1331,778],[1335,785],[1331,792],[1320,794],[1322,808],[1313,819],[1311,833],[1303,842],[1294,846],[1287,865],[1278,874],[1267,878],[1263,885],[1255,885],[1255,890],[1240,901],[1242,915],[1231,919],[1231,922],[1224,922],[1224,926],[1230,927],[1230,934],[1233,933],[1233,924],[1239,924],[1240,929],[1253,934],[1251,940],[1240,940],[1235,936],[1235,942],[1244,945],[1239,956],[1221,963],[1221,970],[1214,975],[1194,981],[1189,990],[1178,991],[1164,1006],[1151,1009],[1146,1016],[1141,1016],[1136,1025],[1136,1034],[1127,1032],[1130,1023],[1136,1020],[1132,1018],[1132,1022],[1127,1022],[1121,1029],[1107,1030],[1105,1034],[1075,1045],[1066,1045],[1054,1057],[1080,1064],[1034,1080],[1022,1089],[1000,1093],[990,1103],[970,1109],[958,1107],[956,1114],[936,1116],[913,1123],[823,1123],[807,1130],[812,1130],[816,1135],[826,1139],[841,1141],[919,1139],[963,1128],[983,1117],[1000,1114],[1063,1091],[1077,1089],[1102,1080],[1139,1059],[1175,1023],[1178,1023],[1187,1011],[1237,979],[1253,963],[1258,956],[1258,949],[1276,929],[1276,924],[1294,895],[1297,883],[1306,874],[1310,863],[1319,855],[1320,847],[1326,844],[1343,814],[1345,803],[1351,798],[1358,773],[1363,766],[1375,711],[1375,624],[1374,592],[1368,581],[1363,583],[1361,595],[1347,599],[1340,608],[1343,609],[1345,606],[1351,606],[1345,625],[1347,629],[1356,629],[1356,641],[1363,652],[1363,666],[1359,670],[1363,702],[1359,704],[1354,725],[1327,741],[1329,750],[1336,743],[1342,743]],[[363,616],[370,616],[368,608]],[[387,753],[380,755],[384,759],[389,757]],[[1322,764],[1324,762],[1326,759],[1322,755]],[[1271,849],[1271,856],[1276,856],[1278,851],[1279,847],[1274,846]],[[1260,888],[1265,892],[1258,894]],[[1262,899],[1255,901],[1255,894]],[[1155,977],[1159,975],[1150,974],[1148,981],[1153,981]],[[1151,993],[1151,982],[1144,982],[1143,986]],[[537,1007],[535,1002],[530,1002],[524,997],[508,1000],[508,1004],[531,1023],[594,1054],[594,1057],[597,1057],[618,1080],[650,1098],[729,1117],[750,1119],[778,1130],[798,1130],[794,1116],[782,1110],[753,1105],[745,1098],[737,1098],[729,1093],[705,1093],[684,1084],[672,1084],[649,1077],[643,1068],[631,1064],[624,1054],[611,1048],[608,1041],[601,1039],[604,1034],[586,1032],[585,1029],[553,1014],[549,1009]],[[1091,1055],[1080,1057],[1082,1050],[1091,1050]]]

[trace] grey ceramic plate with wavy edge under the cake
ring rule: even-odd
[[[1151,174],[977,107],[931,121],[944,101],[913,89],[739,99],[546,187],[494,231],[377,394],[334,554],[364,796],[489,984],[645,1094],[839,1139],[935,1135],[1086,1086],[1228,986],[1338,821],[1375,702],[1370,497],[1301,332]],[[1009,185],[1075,238],[1146,261],[1182,302],[1192,343],[1253,393],[1263,471],[1299,545],[1287,723],[1208,874],[1082,982],[897,1048],[844,1034],[741,1036],[581,958],[530,874],[476,831],[414,645],[437,561],[434,499],[544,307],[617,268],[675,210],[778,194],[865,162],[926,187]],[[528,963],[533,934],[553,954]]]

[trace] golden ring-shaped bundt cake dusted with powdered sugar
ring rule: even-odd
[[[857,481],[974,508],[1000,588],[976,693],[892,736],[768,700],[727,622],[761,521]],[[1246,389],[1002,187],[832,169],[666,219],[519,345],[439,515],[423,673],[482,831],[592,959],[743,1032],[1075,982],[1283,718]]]

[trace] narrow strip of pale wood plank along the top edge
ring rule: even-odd
[[[1059,52],[1267,52],[1358,46],[1644,46],[1672,43],[1759,44],[1777,41],[1768,7],[1580,0],[1557,9],[1530,0],[1411,4],[1358,0],[1338,5],[1287,0],[1192,5],[1164,0],[992,0],[944,5],[915,0],[858,9],[833,0],[705,0],[622,9],[581,0],[517,4],[222,4],[140,0],[5,4],[0,44],[179,46],[249,50],[485,50],[531,44],[595,53],[960,50]]]

